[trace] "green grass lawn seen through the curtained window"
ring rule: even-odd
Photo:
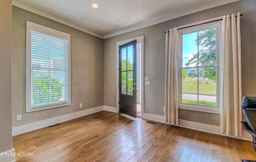
[[[198,80],[198,82],[209,82],[213,83],[213,80]],[[199,94],[212,94],[216,95],[216,84],[195,84],[196,79],[185,79],[182,81],[182,92],[183,93],[195,93],[197,94],[197,87],[199,89]]]

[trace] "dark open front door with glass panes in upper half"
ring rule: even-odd
[[[136,118],[137,40],[119,46],[119,113]]]

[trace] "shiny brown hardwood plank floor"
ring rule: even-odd
[[[17,162],[241,162],[253,143],[101,111],[13,137]],[[153,122],[153,121],[151,121]]]

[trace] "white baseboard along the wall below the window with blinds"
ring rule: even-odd
[[[32,130],[36,130],[36,129],[39,129],[39,128],[43,128],[43,127],[46,127],[46,126],[50,126],[52,124],[56,124],[56,123],[59,123],[59,122],[64,122],[64,121],[67,121],[67,120],[78,118],[80,116],[85,116],[85,115],[88,115],[88,114],[99,112],[99,111],[102,111],[102,110],[104,110],[104,106],[99,106],[99,107],[96,107],[96,108],[90,108],[90,109],[87,109],[87,110],[82,110],[82,111],[74,112],[74,113],[71,113],[71,114],[57,116],[55,118],[41,120],[41,121],[38,121],[38,122],[25,124],[25,125],[22,125],[22,126],[16,126],[16,127],[12,128],[12,136],[17,135],[17,134],[22,134],[22,133],[25,133],[25,132],[29,132],[29,131],[32,131]]]

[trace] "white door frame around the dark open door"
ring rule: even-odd
[[[130,38],[127,40],[122,40],[120,42],[116,42],[116,108],[117,112],[119,112],[119,46],[131,42],[132,40],[137,40],[137,42],[141,42],[141,56],[140,56],[140,95],[141,95],[141,118],[144,116],[144,36],[138,36],[136,38]]]

